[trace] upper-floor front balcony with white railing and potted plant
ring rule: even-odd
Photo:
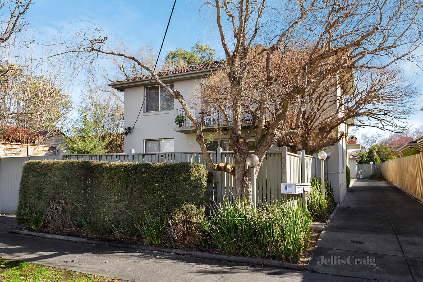
[[[201,124],[203,132],[215,131],[217,129],[224,129],[226,127],[225,115],[217,109],[206,109],[206,110],[191,110],[192,115]],[[229,123],[233,121],[232,109],[227,109],[226,113],[229,117]],[[245,114],[242,116],[242,129],[247,129],[251,125],[252,116]],[[185,115],[184,110],[175,110],[175,131],[181,133],[195,133],[195,126],[192,120],[188,119]]]

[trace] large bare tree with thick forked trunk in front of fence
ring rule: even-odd
[[[401,81],[395,71],[397,64],[415,62],[418,59],[415,50],[422,42],[422,3],[415,0],[342,0],[333,3],[301,0],[284,3],[283,7],[266,0],[209,0],[205,4],[215,13],[228,63],[228,83],[222,91],[228,94],[223,97],[224,101],[216,101],[216,107],[227,119],[235,164],[215,164],[208,158],[201,123],[190,112],[184,96],[179,90],[170,89],[136,55],[107,48],[107,37],[101,29],[80,30],[72,43],[61,45],[64,48],[61,54],[85,58],[87,54],[91,58],[100,55],[124,57],[148,71],[180,102],[185,115],[194,124],[196,140],[209,167],[235,177],[238,198],[250,197],[251,193],[250,169],[244,168],[250,151],[248,137],[255,138],[255,154],[261,164],[277,140],[300,134],[307,126],[303,120],[313,112],[310,107],[319,104],[315,101],[321,96],[319,93],[326,93],[325,85],[337,85],[342,79],[347,82],[347,88],[351,88],[348,85],[353,85],[354,75],[376,80],[391,77],[393,81]],[[289,60],[298,60],[299,63],[286,63]],[[288,78],[284,76],[287,71],[292,74]],[[364,99],[358,103],[375,104],[377,97],[373,96],[383,89],[379,92],[369,89],[380,86],[371,80],[367,88],[357,87]],[[250,103],[250,128],[243,131],[245,101],[249,96],[253,96],[255,102]],[[341,95],[336,99],[348,101],[349,98]],[[396,99],[398,101],[398,97]],[[350,101],[357,102],[356,99]],[[336,127],[337,123],[357,114],[364,116],[354,108],[349,109],[349,102],[341,105],[336,106],[339,107],[339,118],[329,127]],[[387,119],[396,118],[389,105],[371,109],[374,112],[369,118],[378,126],[383,126]]]

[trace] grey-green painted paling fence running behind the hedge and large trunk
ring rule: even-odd
[[[61,151],[60,151],[61,152]],[[215,163],[233,163],[233,152],[208,152]],[[253,152],[251,152],[253,153]],[[18,202],[19,183],[22,168],[26,161],[32,159],[76,159],[97,160],[105,162],[195,162],[205,164],[201,152],[177,153],[121,153],[121,154],[67,154],[0,158],[0,213],[14,213]],[[256,178],[258,205],[264,203],[280,203],[287,200],[281,193],[281,183],[308,183],[314,177],[320,178],[320,160],[306,155],[304,151],[289,153],[286,147],[281,151],[269,151],[263,160]],[[220,204],[225,199],[233,202],[234,178],[226,172],[212,173],[212,181],[208,185],[207,205]],[[295,200],[291,197],[289,200]]]

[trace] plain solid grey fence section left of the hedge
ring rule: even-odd
[[[22,168],[26,161],[59,158],[59,155],[0,158],[0,214],[14,214],[16,211]]]

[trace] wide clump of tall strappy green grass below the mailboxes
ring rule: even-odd
[[[227,254],[298,263],[310,240],[311,222],[301,206],[282,203],[255,210],[240,200],[217,207],[206,229],[214,248]]]

